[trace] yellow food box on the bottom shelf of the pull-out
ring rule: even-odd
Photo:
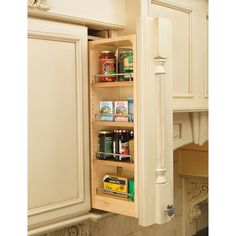
[[[127,193],[129,189],[129,180],[132,179],[133,178],[130,177],[105,175],[103,178],[104,192],[127,198],[128,197]]]

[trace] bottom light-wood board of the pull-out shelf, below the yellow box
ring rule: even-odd
[[[109,211],[121,215],[138,217],[135,212],[135,203],[128,198],[109,195],[99,192],[92,200],[92,208]]]

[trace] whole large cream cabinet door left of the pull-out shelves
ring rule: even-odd
[[[87,28],[29,19],[29,228],[90,210]]]

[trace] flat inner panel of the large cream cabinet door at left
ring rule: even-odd
[[[74,51],[73,43],[29,39],[30,208],[80,197]]]

